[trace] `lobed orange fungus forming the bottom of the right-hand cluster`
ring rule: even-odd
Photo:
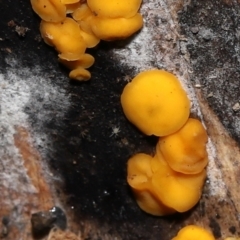
[[[191,209],[200,199],[206,171],[182,174],[172,170],[162,156],[136,154],[128,161],[127,181],[139,207],[157,216]]]

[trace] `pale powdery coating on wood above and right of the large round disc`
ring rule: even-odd
[[[177,13],[174,9],[176,4],[178,3],[174,0],[143,1],[140,11],[144,18],[143,29],[124,48],[114,49],[114,54],[123,65],[135,69],[134,75],[152,68],[165,69],[175,74],[191,100],[191,112],[203,121],[195,90],[190,83],[187,39],[179,34]],[[210,140],[207,150],[209,195],[223,199],[226,196],[226,187],[215,164],[216,151]]]

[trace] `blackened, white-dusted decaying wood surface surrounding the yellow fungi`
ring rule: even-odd
[[[229,107],[239,91],[237,77],[231,78],[239,67],[232,58],[238,53],[238,8],[237,1],[143,1],[143,30],[129,41],[93,49],[92,79],[74,84],[54,50],[39,40],[30,3],[6,1],[0,22],[1,236],[32,239],[31,214],[54,205],[63,207],[69,229],[82,239],[170,240],[186,224],[208,228],[219,240],[240,235],[239,112]],[[213,17],[217,11],[221,15]],[[229,29],[214,22],[229,16]],[[11,20],[30,30],[19,36]],[[219,67],[221,59],[228,64]],[[178,76],[192,116],[209,134],[202,199],[191,211],[166,218],[143,213],[125,179],[127,159],[153,154],[156,139],[125,119],[119,96],[129,79],[149,68]],[[212,80],[213,70],[218,81]],[[211,92],[217,97],[209,97]],[[114,127],[120,128],[118,136],[112,136]]]

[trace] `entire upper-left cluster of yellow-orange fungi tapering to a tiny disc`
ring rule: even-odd
[[[60,62],[71,69],[69,77],[79,81],[91,77],[85,67],[79,66],[79,61],[76,63],[86,48],[95,47],[100,40],[127,38],[142,27],[142,16],[137,13],[141,2],[31,0],[33,10],[42,19],[42,38],[48,45],[55,47]],[[78,67],[72,69],[76,64]]]

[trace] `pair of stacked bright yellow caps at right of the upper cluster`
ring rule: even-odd
[[[91,29],[95,36],[105,41],[125,39],[143,26],[137,13],[142,0],[88,0],[93,16]],[[88,19],[89,20],[89,19]]]

